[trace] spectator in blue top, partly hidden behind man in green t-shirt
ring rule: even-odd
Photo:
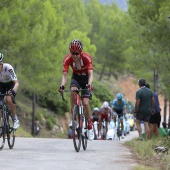
[[[145,85],[148,89],[150,89],[149,84]],[[155,100],[155,114],[151,115],[150,120],[149,120],[149,128],[150,128],[150,137],[154,134],[155,136],[159,136],[159,126],[160,126],[160,121],[161,121],[161,108],[159,105],[159,99],[158,95],[154,92],[153,97]]]

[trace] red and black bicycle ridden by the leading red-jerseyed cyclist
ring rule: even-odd
[[[72,114],[72,138],[74,148],[77,152],[80,151],[81,143],[83,145],[83,149],[87,149],[87,118],[85,116],[85,110],[82,104],[82,94],[80,95],[79,92],[82,92],[87,89],[79,89],[79,90],[63,90],[62,92],[75,92],[75,104],[73,107],[73,114]],[[63,101],[64,95],[60,93],[62,96]]]

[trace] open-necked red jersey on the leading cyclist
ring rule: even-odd
[[[77,74],[77,75],[88,74],[88,70],[93,70],[92,57],[89,54],[82,52],[80,54],[80,65],[81,65],[81,70],[78,70],[76,68],[75,61],[71,57],[71,54],[68,54],[63,59],[63,72],[68,73],[69,66],[71,66],[73,70],[73,74]]]

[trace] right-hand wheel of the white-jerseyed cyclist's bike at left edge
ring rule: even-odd
[[[6,131],[7,131],[8,146],[10,149],[12,149],[15,143],[15,130],[9,125],[7,125]]]

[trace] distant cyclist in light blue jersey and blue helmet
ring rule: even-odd
[[[124,125],[123,125],[123,116],[126,110],[126,101],[123,99],[123,95],[121,93],[118,93],[116,95],[116,99],[112,102],[112,108],[113,108],[113,119],[114,123],[116,125],[116,118],[120,118],[121,123],[121,129],[122,129],[122,139],[124,138]]]

